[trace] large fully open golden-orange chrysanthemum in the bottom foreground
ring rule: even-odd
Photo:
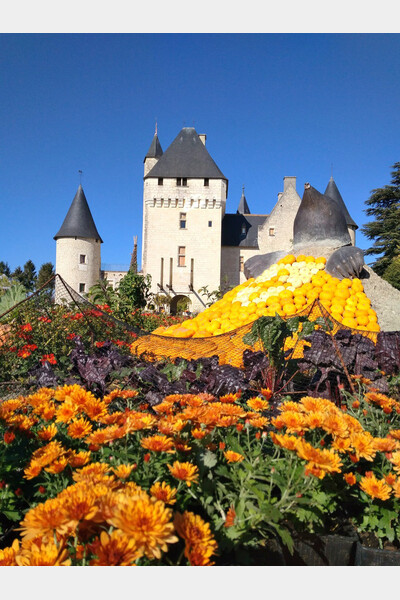
[[[139,552],[150,559],[160,558],[161,552],[168,551],[168,544],[178,541],[171,521],[172,510],[148,496],[120,496],[108,522],[132,539]]]

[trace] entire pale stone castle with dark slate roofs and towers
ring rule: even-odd
[[[244,195],[236,213],[226,212],[228,179],[206,148],[206,135],[184,127],[163,152],[157,130],[144,158],[142,273],[151,292],[171,297],[171,312],[182,298],[190,310],[206,307],[209,291],[243,281],[244,263],[254,255],[292,250],[293,223],[301,198],[296,177],[283,178],[283,191],[270,214],[252,214]],[[356,223],[331,177],[325,194],[346,217],[352,245]],[[87,293],[101,277],[117,285],[126,273],[101,268],[102,239],[80,185],[54,236],[56,273],[77,292]]]

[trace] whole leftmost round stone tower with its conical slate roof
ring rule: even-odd
[[[83,188],[79,185],[56,240],[56,273],[78,293],[85,294],[100,279],[103,242]]]

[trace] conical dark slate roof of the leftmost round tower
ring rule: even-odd
[[[92,213],[90,212],[81,185],[79,185],[75,198],[67,212],[67,216],[65,217],[60,230],[54,236],[54,239],[57,240],[61,237],[93,238],[100,240],[101,243],[103,242],[97,231],[96,225],[94,224]]]

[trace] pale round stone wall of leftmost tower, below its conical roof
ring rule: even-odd
[[[59,238],[56,244],[56,273],[78,293],[87,293],[100,279],[101,243],[85,238]],[[81,262],[84,256],[85,262]],[[82,290],[80,284],[85,287]]]

